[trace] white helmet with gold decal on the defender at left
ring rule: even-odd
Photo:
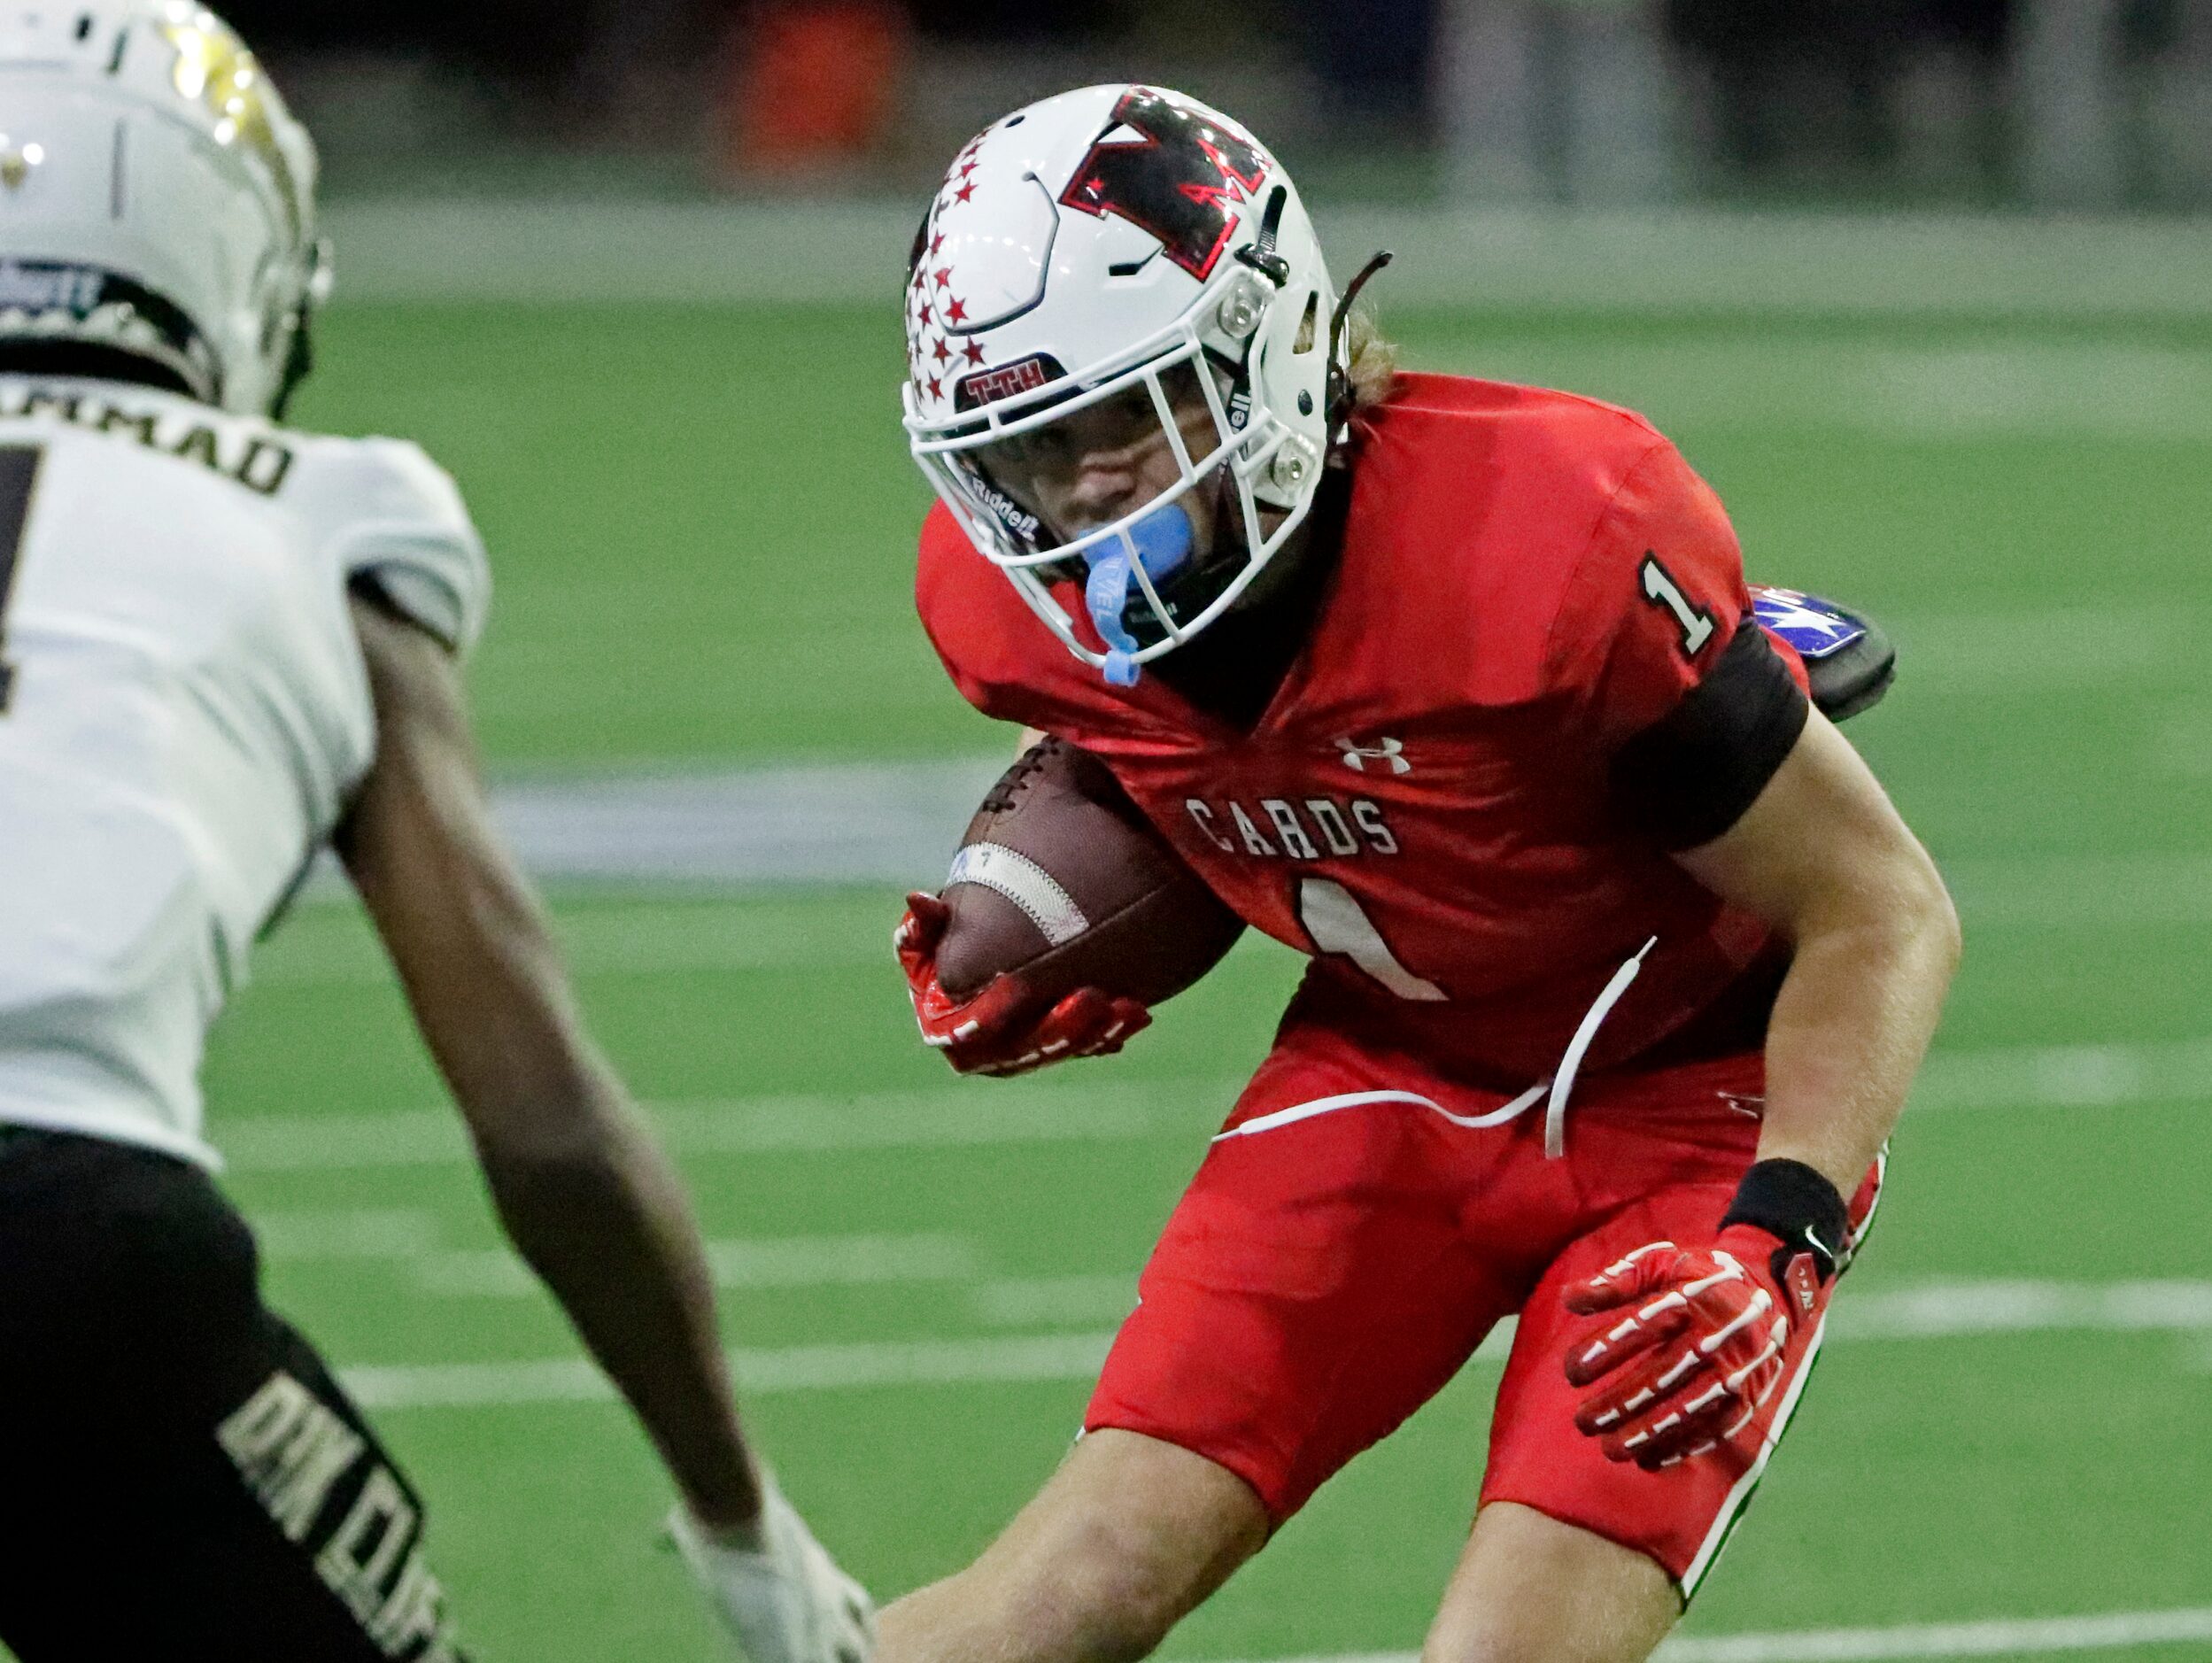
[[[0,345],[159,365],[270,414],[330,285],[316,155],[268,73],[186,0],[0,0]]]

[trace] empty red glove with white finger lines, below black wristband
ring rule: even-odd
[[[1703,1247],[1648,1243],[1571,1287],[1566,1309],[1619,1311],[1568,1351],[1568,1382],[1597,1384],[1575,1426],[1646,1471],[1741,1437],[1781,1387],[1792,1325],[1827,1303],[1814,1256],[1781,1254],[1739,1223]]]

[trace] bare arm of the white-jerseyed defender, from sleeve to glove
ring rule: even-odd
[[[748,1528],[761,1475],[690,1205],[584,1033],[544,911],[491,825],[458,666],[369,599],[354,602],[354,621],[378,745],[338,856],[515,1247],[646,1424],[692,1515]]]

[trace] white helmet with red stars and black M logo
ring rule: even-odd
[[[1245,128],[1150,86],[1048,97],[953,157],[916,237],[914,460],[1066,648],[1135,681],[1234,606],[1312,509],[1340,420],[1334,312],[1298,190]],[[1199,444],[1170,414],[1170,387],[1192,385],[1212,416]],[[1133,389],[1172,444],[1166,493],[1062,537],[993,480],[1009,440]],[[1221,531],[1190,562],[1177,502],[1201,489]],[[1077,584],[1102,646],[1064,599]]]

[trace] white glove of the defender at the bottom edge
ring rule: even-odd
[[[668,1537],[745,1663],[867,1663],[876,1652],[876,1606],[836,1568],[805,1519],[774,1484],[761,1497],[750,1539],[717,1537],[686,1508]]]

